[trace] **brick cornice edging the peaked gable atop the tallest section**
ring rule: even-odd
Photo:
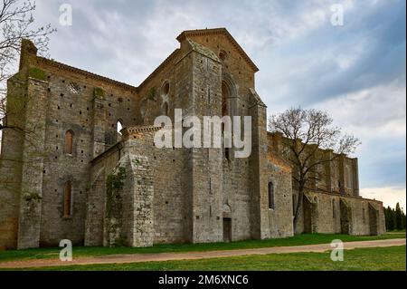
[[[182,41],[185,40],[185,38],[188,38],[189,36],[201,36],[201,35],[213,35],[213,34],[223,34],[230,40],[232,45],[237,49],[237,51],[241,54],[241,57],[249,63],[251,68],[253,69],[254,72],[258,72],[259,68],[256,66],[251,61],[251,58],[247,53],[244,52],[244,50],[241,48],[241,45],[233,38],[232,34],[227,31],[226,28],[213,28],[213,29],[196,29],[196,30],[185,30],[181,34],[176,37],[176,40],[181,43]]]

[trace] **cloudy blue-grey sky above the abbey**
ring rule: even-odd
[[[183,30],[226,27],[260,68],[256,86],[269,113],[327,110],[363,142],[362,195],[405,208],[405,0],[36,2],[37,23],[58,29],[53,59],[136,86]],[[59,22],[63,4],[71,26]],[[335,4],[342,26],[331,24]]]

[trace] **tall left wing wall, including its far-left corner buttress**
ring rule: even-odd
[[[24,176],[18,171],[25,168],[30,179],[14,177],[17,182],[7,185],[15,187],[13,193],[6,193],[9,189],[2,188],[5,191],[2,197],[10,195],[15,198],[14,205],[10,206],[14,207],[13,217],[10,217],[14,224],[19,219],[21,225],[19,247],[55,246],[62,238],[69,238],[76,245],[83,244],[85,190],[89,182],[90,160],[116,143],[118,120],[124,126],[137,123],[134,117],[137,90],[127,84],[38,57],[33,44],[26,41],[22,52],[20,72],[9,82],[9,101],[13,100],[13,95],[15,98],[24,97],[25,104],[33,100],[33,108],[9,113],[16,114],[15,120],[24,121],[25,137],[19,137],[13,131],[5,132],[1,169],[13,167],[14,176]],[[27,105],[27,108],[31,106]],[[10,118],[9,121],[14,120]],[[64,152],[64,138],[68,130],[73,132],[71,154]],[[18,141],[19,138],[24,138],[24,141]],[[33,142],[39,144],[35,151]],[[20,143],[24,149],[19,147]],[[17,158],[18,161],[22,157],[25,159],[23,166],[21,163],[7,163],[7,159]],[[32,159],[35,159],[35,168],[30,165]],[[33,201],[30,201],[32,205],[25,204],[27,197],[20,196],[23,189],[21,181],[29,199],[38,196],[35,206]],[[63,191],[67,181],[72,183],[71,217],[62,216]],[[2,182],[2,186],[4,184]],[[33,190],[38,192],[33,193]],[[16,213],[20,199],[24,206]],[[7,227],[13,224],[12,221],[6,222],[9,224]],[[7,233],[14,239],[13,244],[6,242],[7,246],[17,246],[15,230],[16,225],[12,229],[14,233]]]

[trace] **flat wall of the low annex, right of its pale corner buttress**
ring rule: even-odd
[[[156,130],[155,130],[156,131]],[[141,132],[137,139],[128,140],[130,155],[149,160],[153,176],[154,243],[183,243],[190,241],[186,228],[189,180],[188,153],[183,149],[157,149],[154,132]]]

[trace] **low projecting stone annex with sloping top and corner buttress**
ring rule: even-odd
[[[131,226],[133,229],[139,229],[141,226],[137,224],[140,221],[146,221],[146,217],[140,217],[139,214],[143,212],[146,206],[141,206],[142,202],[140,198],[145,203],[146,201],[151,202],[151,214],[148,222],[151,224],[145,224],[144,226],[151,225],[152,227],[146,229],[148,234],[148,242],[145,240],[144,243],[140,241],[141,236],[137,237],[137,234],[143,232],[134,231],[133,239],[130,242],[128,239],[128,245],[130,246],[147,246],[154,243],[180,243],[189,241],[187,236],[187,222],[186,222],[186,194],[185,194],[185,180],[183,179],[187,176],[185,163],[187,163],[184,152],[181,149],[156,149],[154,146],[154,132],[156,130],[152,129],[148,131],[147,129],[140,131],[137,134],[137,138],[131,138],[126,140],[125,143],[119,143],[112,149],[109,149],[105,154],[99,156],[99,158],[93,161],[93,173],[95,174],[93,179],[97,179],[93,188],[89,192],[89,204],[88,204],[88,217],[87,217],[87,227],[86,232],[89,232],[86,236],[85,245],[94,246],[102,245],[102,241],[105,240],[105,245],[112,245],[106,242],[106,236],[100,237],[101,232],[95,232],[93,227],[99,227],[98,220],[104,220],[107,216],[105,210],[106,207],[106,188],[102,188],[103,184],[106,184],[109,175],[112,173],[113,169],[118,166],[124,159],[132,159],[131,161],[126,160],[124,163],[126,166],[127,178],[125,180],[125,188],[121,190],[134,191],[135,194],[132,195],[134,200],[129,202],[125,201],[128,199],[126,197],[121,197],[123,202],[120,202],[121,206],[126,204],[132,204],[133,216],[129,217],[128,221],[134,221],[135,225]],[[135,160],[138,159],[138,160]],[[128,169],[128,164],[133,168]],[[147,165],[148,164],[148,165]],[[99,171],[104,173],[98,174]],[[133,171],[133,173],[130,173]],[[141,182],[141,183],[140,183]],[[99,186],[96,184],[99,183]],[[143,185],[144,183],[144,185]],[[134,188],[132,187],[134,186]],[[147,186],[147,190],[145,187]],[[149,192],[143,197],[143,193]],[[154,196],[154,197],[153,197]],[[141,206],[141,207],[140,207]],[[98,212],[92,209],[93,207],[98,207]],[[123,208],[123,207],[122,207]],[[131,211],[132,209],[128,207],[126,210],[116,210],[116,214],[121,214],[120,217],[125,219],[126,211]],[[138,215],[137,215],[138,214]],[[95,217],[97,216],[97,217]],[[128,232],[128,229],[125,230]],[[95,234],[96,233],[96,234]],[[128,233],[125,234],[128,236]],[[143,236],[144,237],[144,236]]]

